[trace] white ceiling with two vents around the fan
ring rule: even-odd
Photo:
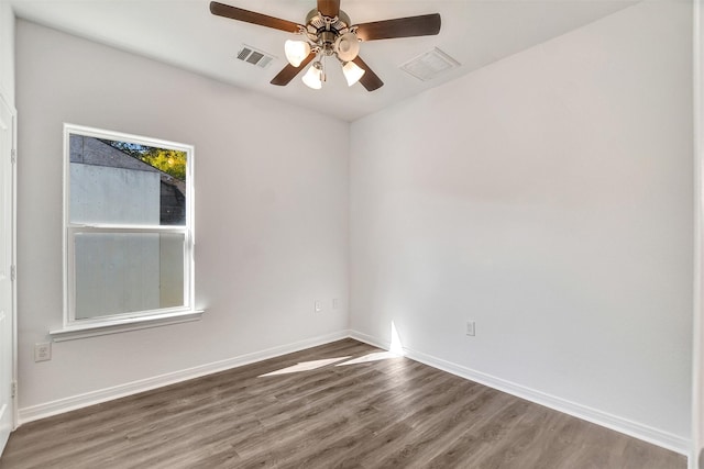
[[[3,0],[6,1],[6,0]],[[629,0],[342,0],[353,24],[440,13],[437,36],[362,43],[360,56],[384,81],[369,92],[346,87],[341,70],[328,67],[323,89],[295,78],[270,85],[286,65],[282,31],[210,14],[209,0],[9,0],[15,14],[121,49],[152,57],[220,81],[353,121],[487,64],[626,8]],[[315,0],[220,0],[245,10],[304,23]],[[237,60],[242,44],[274,55],[267,68]],[[398,67],[439,47],[461,67],[420,81]],[[302,75],[302,74],[301,74]],[[520,77],[516,77],[520,79]]]

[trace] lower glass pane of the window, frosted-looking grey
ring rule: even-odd
[[[78,233],[76,320],[184,306],[182,233]]]

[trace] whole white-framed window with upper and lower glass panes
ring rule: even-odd
[[[52,335],[193,314],[193,146],[69,124],[64,141],[66,300]]]

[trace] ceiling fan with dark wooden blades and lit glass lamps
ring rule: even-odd
[[[349,86],[359,81],[367,91],[374,91],[384,82],[359,56],[360,42],[429,36],[440,32],[439,13],[352,24],[350,16],[340,10],[340,0],[318,0],[317,8],[306,15],[305,25],[217,1],[210,2],[210,12],[301,35],[304,41],[286,41],[288,65],[271,82],[288,85],[312,62],[302,81],[314,89],[320,89],[326,80],[323,58],[336,57]]]

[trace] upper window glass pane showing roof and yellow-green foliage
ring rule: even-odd
[[[72,134],[69,221],[185,225],[186,152]]]

